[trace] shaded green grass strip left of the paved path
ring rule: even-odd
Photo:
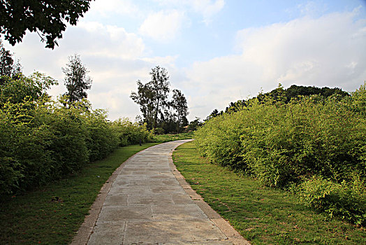
[[[0,203],[0,244],[68,244],[112,172],[154,145],[118,148],[74,176]]]

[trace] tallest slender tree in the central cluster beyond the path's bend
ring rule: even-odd
[[[156,128],[158,123],[159,114],[163,116],[164,107],[168,106],[168,93],[170,91],[170,83],[168,71],[160,66],[155,66],[150,71],[152,80],[151,83],[152,90],[154,92],[154,124],[153,128]]]

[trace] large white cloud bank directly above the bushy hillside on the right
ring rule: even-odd
[[[354,18],[332,13],[238,31],[240,55],[196,62],[186,71],[191,115],[204,118],[278,83],[355,90],[366,79],[366,20]]]

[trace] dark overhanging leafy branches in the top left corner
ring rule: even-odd
[[[76,25],[78,18],[89,10],[92,0],[33,0],[1,1],[0,36],[11,45],[19,43],[27,30],[37,32],[46,48],[57,45],[56,38],[62,38],[66,23]]]

